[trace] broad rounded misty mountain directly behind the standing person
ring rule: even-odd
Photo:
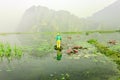
[[[84,21],[84,20],[83,20]],[[27,9],[19,25],[19,31],[80,31],[83,22],[67,11],[54,11],[42,6]]]

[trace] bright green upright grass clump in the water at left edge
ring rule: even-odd
[[[16,45],[12,47],[9,43],[0,42],[0,57],[7,58],[10,61],[12,58],[20,58],[22,56],[22,49]]]

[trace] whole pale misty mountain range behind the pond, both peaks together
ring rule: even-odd
[[[19,32],[83,31],[120,29],[120,0],[81,19],[68,11],[55,11],[32,6],[25,11],[18,27]]]

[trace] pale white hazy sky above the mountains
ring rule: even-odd
[[[86,18],[117,0],[0,0],[0,32],[14,32],[24,11],[32,5],[67,10]]]

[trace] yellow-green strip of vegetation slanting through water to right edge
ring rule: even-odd
[[[118,69],[120,70],[120,52],[119,51],[112,50],[107,45],[102,44],[95,39],[90,39],[87,42],[90,44],[93,44],[100,53],[106,55],[107,57],[110,57],[113,61],[115,61],[118,64]],[[117,46],[116,48],[118,49],[118,47],[119,46]]]

